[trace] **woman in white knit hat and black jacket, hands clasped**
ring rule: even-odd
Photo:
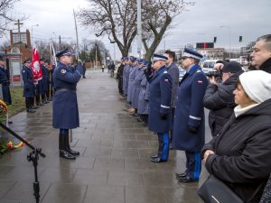
[[[271,74],[243,73],[234,90],[234,114],[201,157],[210,174],[244,202],[258,202],[271,172]]]

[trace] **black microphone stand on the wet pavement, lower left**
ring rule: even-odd
[[[2,124],[2,122],[0,122],[0,126],[3,127],[6,132],[14,135],[14,137],[16,137],[18,140],[22,141],[23,143],[25,143],[25,145],[27,145],[30,149],[33,150],[33,152],[30,152],[29,154],[27,154],[27,160],[33,161],[34,178],[35,178],[35,180],[33,182],[33,191],[34,191],[33,195],[36,199],[36,203],[39,203],[40,202],[40,183],[38,180],[38,160],[39,160],[39,155],[41,155],[42,158],[45,158],[46,155],[44,153],[42,153],[41,148],[34,147],[32,144],[28,143],[22,137],[20,137],[18,134],[16,134],[12,129],[10,129],[9,127]]]

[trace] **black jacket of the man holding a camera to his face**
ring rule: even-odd
[[[223,84],[217,86],[210,84],[203,97],[204,107],[210,109],[209,126],[212,136],[220,133],[223,125],[227,123],[233,113],[234,103],[233,91],[240,74],[244,71],[232,75]]]

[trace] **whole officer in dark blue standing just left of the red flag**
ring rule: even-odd
[[[33,83],[33,72],[30,67],[31,59],[23,61],[23,97],[25,97],[25,106],[28,113],[34,113],[33,102],[35,97],[35,88]]]

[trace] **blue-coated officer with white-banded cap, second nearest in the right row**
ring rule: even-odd
[[[154,74],[150,82],[150,112],[148,129],[158,135],[159,148],[157,154],[151,156],[151,161],[168,160],[169,130],[171,126],[172,78],[167,72],[163,55],[154,54],[152,58]]]

